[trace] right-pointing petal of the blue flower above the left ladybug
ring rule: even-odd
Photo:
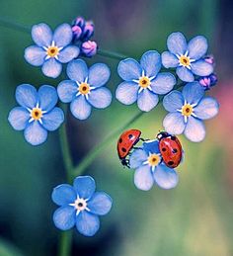
[[[155,79],[151,81],[151,88],[156,94],[167,94],[176,84],[176,78],[171,73],[159,73]]]

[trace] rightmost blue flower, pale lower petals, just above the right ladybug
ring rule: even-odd
[[[163,100],[164,108],[170,112],[163,126],[171,134],[185,133],[194,142],[205,136],[202,120],[213,118],[218,113],[218,103],[212,97],[204,97],[204,89],[198,82],[188,83],[182,93],[173,91]]]

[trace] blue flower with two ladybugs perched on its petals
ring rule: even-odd
[[[162,189],[172,189],[179,182],[176,170],[163,163],[158,140],[146,141],[142,148],[134,149],[129,165],[135,169],[134,184],[140,190],[150,190],[154,183]]]

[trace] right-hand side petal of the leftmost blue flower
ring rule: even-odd
[[[60,108],[54,108],[42,116],[42,126],[47,130],[55,130],[64,122],[64,113]]]

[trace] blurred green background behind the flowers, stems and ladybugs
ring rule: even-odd
[[[133,185],[133,172],[123,169],[116,140],[85,171],[97,189],[114,199],[111,213],[102,218],[99,232],[87,238],[74,231],[72,255],[102,256],[228,256],[233,255],[233,2],[230,0],[0,0],[0,17],[31,28],[44,22],[53,29],[76,16],[92,19],[100,48],[139,57],[148,49],[166,48],[167,36],[183,32],[188,39],[205,35],[216,58],[218,86],[210,95],[220,101],[220,114],[206,122],[203,142],[181,136],[185,162],[179,167],[180,184],[171,191],[149,192]],[[46,143],[33,147],[22,132],[7,122],[16,106],[17,85],[56,86],[40,69],[24,60],[29,34],[0,26],[0,255],[56,255],[60,231],[52,223],[56,206],[50,194],[65,183],[58,131]],[[108,63],[109,87],[114,93],[120,79],[117,60],[95,56],[87,60]],[[68,138],[74,163],[113,129],[126,123],[136,106],[113,101],[107,110],[95,110],[80,122],[68,115]],[[153,138],[162,128],[161,106],[144,114],[130,128]]]

